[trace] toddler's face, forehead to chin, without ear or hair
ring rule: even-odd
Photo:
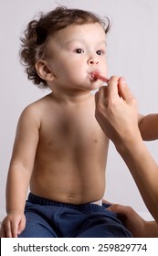
[[[63,28],[50,38],[47,47],[53,87],[91,91],[101,85],[91,72],[107,76],[106,37],[99,23]]]

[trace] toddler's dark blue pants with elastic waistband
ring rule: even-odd
[[[132,234],[106,208],[109,205],[71,205],[29,194],[26,229],[19,238],[132,238]]]

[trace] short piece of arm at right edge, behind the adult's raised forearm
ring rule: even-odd
[[[144,141],[153,141],[158,139],[158,114],[148,114],[139,116],[139,128]]]

